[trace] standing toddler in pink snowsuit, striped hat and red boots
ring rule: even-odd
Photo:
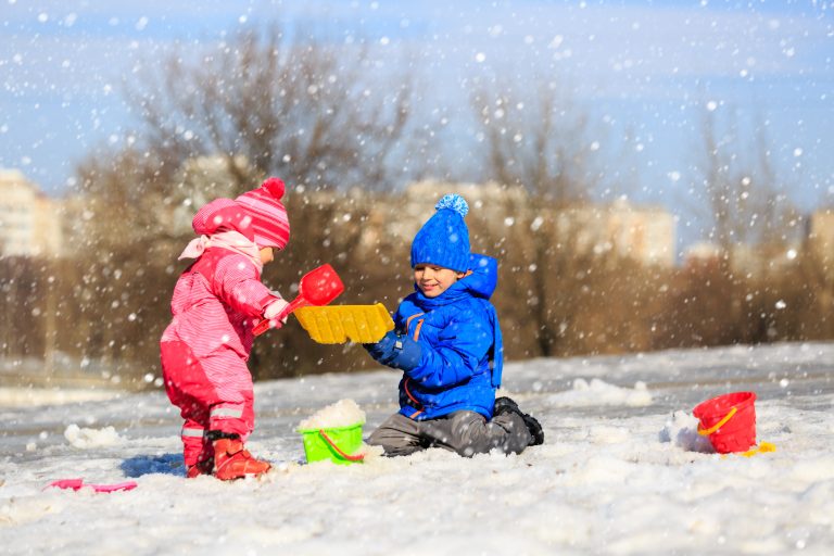
[[[200,237],[179,256],[197,261],[174,288],[174,318],[160,350],[165,390],[185,419],[189,478],[228,480],[269,469],[243,447],[254,428],[247,361],[254,325],[275,319],[287,306],[261,282],[273,249],[283,249],[290,237],[283,191],[283,181],[270,178],[233,201],[206,204],[192,220]]]

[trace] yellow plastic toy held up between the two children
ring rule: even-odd
[[[295,316],[314,342],[376,343],[394,329],[394,321],[381,303],[376,305],[327,305],[301,307]]]

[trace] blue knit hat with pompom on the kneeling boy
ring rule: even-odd
[[[469,269],[469,229],[464,216],[469,205],[463,197],[448,194],[434,210],[438,212],[412,242],[412,268],[422,263],[465,273]]]

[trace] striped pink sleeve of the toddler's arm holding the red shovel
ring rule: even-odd
[[[260,317],[277,298],[261,282],[261,275],[243,256],[225,256],[217,264],[215,279],[223,301],[236,312]]]

